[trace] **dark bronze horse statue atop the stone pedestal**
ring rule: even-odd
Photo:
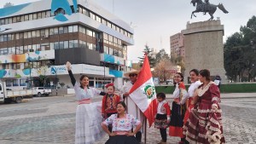
[[[192,12],[191,14],[191,19],[192,16],[194,15],[196,17],[196,15],[194,13],[198,13],[198,12],[203,12],[204,14],[210,14],[211,18],[209,20],[213,20],[213,14],[215,13],[217,7],[218,9],[222,10],[225,14],[228,14],[229,12],[224,9],[224,6],[222,3],[219,3],[218,5],[214,5],[212,3],[209,3],[209,0],[205,0],[206,3],[202,2],[201,0],[192,0],[191,3],[193,3],[193,6],[195,7],[196,4],[196,9],[195,11]]]

